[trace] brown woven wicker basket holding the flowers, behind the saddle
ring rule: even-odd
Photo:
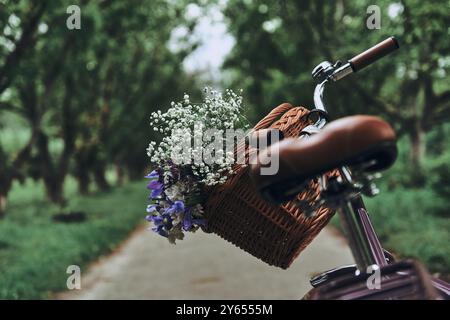
[[[275,128],[285,137],[298,136],[309,124],[308,114],[303,107],[284,103],[254,130]],[[306,218],[293,202],[282,206],[268,204],[254,191],[248,167],[235,164],[233,171],[225,184],[211,190],[205,204],[204,231],[218,234],[269,265],[288,268],[334,212],[320,208],[313,217]],[[318,184],[311,181],[298,199],[313,201],[318,194]]]

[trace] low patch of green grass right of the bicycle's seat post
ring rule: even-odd
[[[450,277],[450,219],[447,201],[431,189],[381,186],[366,207],[384,248],[398,258],[415,258],[430,272]],[[337,218],[333,223],[339,227]]]

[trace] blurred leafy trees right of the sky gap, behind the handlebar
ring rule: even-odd
[[[229,1],[225,14],[237,45],[224,67],[258,110],[255,119],[285,100],[312,106],[317,63],[351,58],[396,36],[398,52],[330,89],[330,112],[386,117],[409,137],[412,172],[421,172],[424,135],[450,114],[448,17],[436,0],[377,5],[381,29],[369,30],[366,1]]]

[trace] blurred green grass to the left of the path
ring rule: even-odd
[[[60,209],[44,200],[41,184],[27,182],[13,189],[7,215],[0,221],[0,299],[45,299],[65,289],[69,265],[83,270],[143,221],[142,182],[80,197],[68,179],[65,190],[67,209],[85,212],[84,222],[53,222],[52,215]]]

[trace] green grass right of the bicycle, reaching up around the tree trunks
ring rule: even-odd
[[[449,181],[432,170],[435,162],[449,159],[450,152],[428,155],[425,186],[405,188],[404,182],[411,175],[407,165],[409,145],[405,138],[397,145],[399,157],[395,165],[377,181],[381,193],[364,198],[370,218],[383,247],[398,258],[418,259],[430,272],[450,280],[450,199],[442,193],[443,188],[448,190]],[[429,145],[439,144],[429,141]],[[433,185],[436,180],[440,181],[438,189]],[[338,219],[334,218],[333,223],[338,225]]]

